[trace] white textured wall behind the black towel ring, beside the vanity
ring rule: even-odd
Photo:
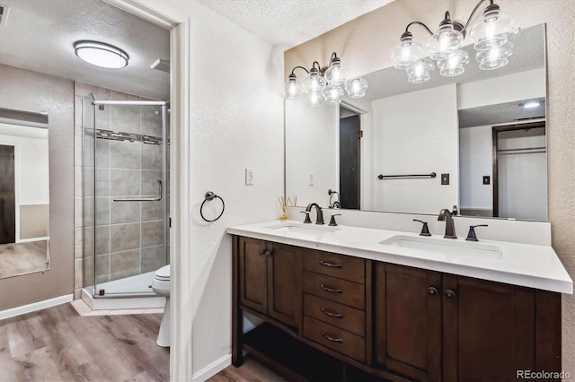
[[[192,351],[179,353],[175,368],[187,373],[182,365],[191,363],[194,379],[207,378],[202,373],[231,352],[232,240],[226,228],[277,219],[280,213],[284,49],[194,1],[139,2],[190,28],[190,211],[182,212],[190,219],[190,253],[176,256],[190,258],[181,277],[191,288],[177,291],[183,312],[181,333],[175,335],[184,336],[181,342],[191,343]],[[245,168],[253,169],[253,186],[244,185]],[[226,212],[213,223],[199,216],[208,190],[226,201]],[[208,203],[207,216],[218,213],[216,203]]]

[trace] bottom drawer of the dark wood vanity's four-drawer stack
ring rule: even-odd
[[[304,335],[310,340],[321,343],[335,352],[341,352],[341,354],[354,360],[360,362],[366,360],[366,341],[357,334],[305,316]]]

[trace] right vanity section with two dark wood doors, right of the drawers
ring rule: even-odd
[[[560,331],[558,293],[385,263],[375,265],[374,290],[376,367],[421,381],[511,381],[517,370],[561,369],[557,333],[549,349],[535,344]],[[537,301],[554,307],[539,322]]]

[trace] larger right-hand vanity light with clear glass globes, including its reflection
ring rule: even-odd
[[[481,0],[465,24],[454,22],[447,11],[445,18],[439,22],[438,30],[433,33],[423,22],[410,22],[400,38],[400,44],[392,51],[394,67],[405,70],[409,82],[429,81],[436,65],[439,74],[455,76],[464,73],[464,66],[469,63],[469,54],[461,49],[469,23],[479,6],[488,0]],[[500,6],[489,0],[482,19],[469,31],[473,41],[475,59],[482,70],[497,69],[509,63],[513,54],[513,44],[508,40],[510,33],[517,33],[514,22],[500,13]],[[431,36],[426,44],[429,57],[425,56],[423,46],[413,39],[411,25],[420,25]],[[435,61],[435,65],[433,61]]]

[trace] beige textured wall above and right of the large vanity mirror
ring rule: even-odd
[[[288,50],[284,56],[284,73],[288,75],[295,65],[317,59],[325,62],[332,51],[345,60],[355,75],[389,67],[391,51],[408,22],[425,22],[435,28],[447,10],[452,19],[464,20],[476,3],[475,0],[396,0]],[[575,278],[575,5],[572,0],[501,0],[498,4],[502,12],[511,15],[521,27],[547,24],[549,221],[553,248],[571,278]],[[420,33],[414,29],[415,36]],[[573,295],[563,295],[562,343],[563,369],[573,374]]]

